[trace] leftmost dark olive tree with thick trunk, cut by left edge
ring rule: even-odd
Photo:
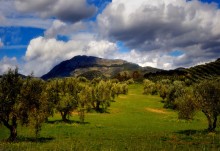
[[[18,69],[9,69],[0,79],[0,122],[10,130],[9,141],[16,140],[17,122],[22,118],[19,99],[22,83]]]

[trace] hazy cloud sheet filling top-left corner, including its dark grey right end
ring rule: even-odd
[[[55,18],[76,23],[96,12],[95,6],[86,0],[0,0],[0,3],[0,26],[3,27],[48,29]]]

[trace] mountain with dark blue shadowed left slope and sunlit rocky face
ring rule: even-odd
[[[156,72],[160,69],[145,67],[124,60],[103,59],[93,56],[75,56],[56,65],[51,71],[43,75],[44,80],[56,77],[84,76],[88,79],[95,77],[112,78],[121,71]]]

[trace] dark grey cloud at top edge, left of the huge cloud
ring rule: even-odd
[[[44,18],[56,17],[67,22],[89,18],[97,9],[86,0],[16,0],[15,6],[21,12],[32,12]]]

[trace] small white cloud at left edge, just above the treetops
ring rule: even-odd
[[[17,59],[15,57],[13,58],[8,58],[8,57],[3,57],[2,60],[0,60],[0,74],[5,73],[8,71],[9,68],[15,69],[16,66],[18,65]]]

